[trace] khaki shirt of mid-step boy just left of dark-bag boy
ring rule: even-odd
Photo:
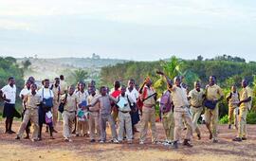
[[[189,97],[191,98],[191,105],[193,107],[201,107],[203,105],[204,95],[205,92],[203,89],[200,89],[199,92],[196,89],[192,89],[192,91],[189,93]]]

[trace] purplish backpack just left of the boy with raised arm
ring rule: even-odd
[[[174,111],[173,101],[170,99],[171,92],[167,90],[160,98],[160,111],[162,113],[168,113],[171,110]]]

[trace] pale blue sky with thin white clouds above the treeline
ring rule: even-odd
[[[0,56],[256,61],[255,0],[0,0]]]

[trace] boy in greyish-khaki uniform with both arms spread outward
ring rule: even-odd
[[[109,123],[112,141],[114,143],[119,143],[118,134],[115,127],[115,122],[113,116],[111,115],[111,101],[117,103],[119,100],[107,94],[107,88],[101,86],[100,89],[101,95],[93,99],[93,101],[87,106],[88,108],[95,106],[97,103],[100,103],[100,127],[101,127],[101,141],[104,143],[106,141],[106,122]]]

